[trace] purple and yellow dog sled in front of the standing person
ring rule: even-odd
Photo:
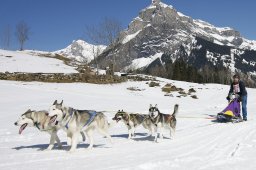
[[[233,98],[228,106],[220,113],[217,114],[217,121],[220,123],[239,123],[242,122],[242,117],[240,115],[240,101],[238,97]]]

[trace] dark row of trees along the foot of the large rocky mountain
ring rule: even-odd
[[[182,58],[176,59],[174,62],[170,60],[164,65],[156,64],[154,67],[143,70],[142,72],[153,76],[194,83],[230,84],[232,77],[232,73],[228,68],[209,65],[196,68]],[[243,74],[241,73],[241,75]],[[246,77],[243,78],[245,78],[248,84],[249,81],[247,80],[249,79]]]

